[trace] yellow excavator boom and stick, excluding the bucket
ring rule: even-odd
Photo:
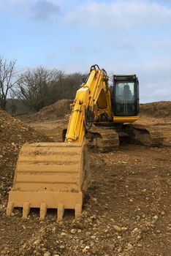
[[[102,114],[107,116],[108,121],[113,120],[107,73],[94,65],[86,83],[77,90],[65,142],[83,143],[85,132],[91,128],[94,119]]]

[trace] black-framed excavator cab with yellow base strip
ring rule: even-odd
[[[113,75],[113,120],[133,122],[139,115],[139,82],[136,75]]]

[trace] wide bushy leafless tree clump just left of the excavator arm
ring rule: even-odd
[[[74,99],[77,89],[83,82],[79,72],[65,74],[61,70],[37,67],[20,75],[15,99],[20,99],[31,111],[51,105],[58,99]]]

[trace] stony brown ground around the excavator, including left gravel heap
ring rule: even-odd
[[[26,220],[21,219],[20,208],[11,217],[5,214],[15,162],[26,141],[50,140],[45,134],[61,141],[68,116],[53,121],[28,120],[29,126],[44,134],[39,135],[22,122],[9,121],[5,113],[0,114],[4,115],[0,118],[0,255],[170,256],[169,117],[162,121],[148,116],[148,123],[164,131],[161,148],[124,142],[118,151],[107,154],[89,151],[92,185],[80,219],[75,220],[74,212],[65,210],[63,221],[56,222],[56,211],[48,210],[41,222],[39,209],[31,209]],[[6,120],[9,124],[3,129]],[[141,118],[142,123],[146,121]]]

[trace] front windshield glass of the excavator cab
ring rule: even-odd
[[[134,116],[134,82],[118,82],[115,86],[117,116]]]

